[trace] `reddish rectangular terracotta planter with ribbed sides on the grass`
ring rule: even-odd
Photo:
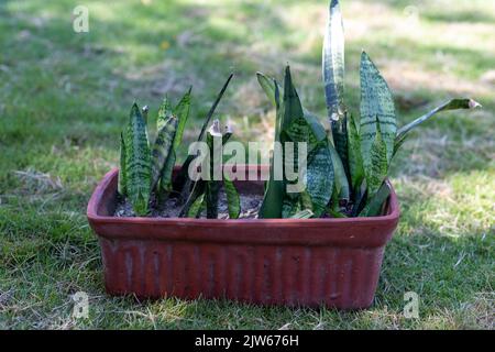
[[[113,169],[88,205],[111,295],[365,308],[399,218],[394,190],[386,215],[376,218],[116,218],[117,184]],[[238,188],[261,194],[263,184],[239,182]]]

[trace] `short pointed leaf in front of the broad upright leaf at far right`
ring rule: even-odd
[[[372,199],[388,173],[387,147],[382,138],[380,124],[377,124],[375,140],[371,147],[370,161],[371,164],[364,168],[364,173],[366,175],[367,197]]]

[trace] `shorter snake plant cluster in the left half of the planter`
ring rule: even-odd
[[[206,129],[231,79],[232,75],[229,76],[208,112],[198,141],[204,139]],[[175,107],[165,97],[158,110],[157,133],[153,143],[150,143],[147,133],[147,107],[141,111],[136,103],[132,106],[129,122],[120,138],[119,194],[132,205],[134,213],[138,216],[147,216],[150,205],[164,204],[174,189],[180,194],[179,200],[193,199],[195,204],[193,206],[186,202],[183,209],[187,209],[187,211],[183,211],[183,216],[196,217],[204,208],[207,209],[208,218],[216,218],[218,215],[219,185],[217,182],[191,183],[187,177],[189,164],[195,156],[186,160],[178,175],[173,179],[177,151],[180,147],[189,117],[190,92],[189,89]],[[216,122],[213,125],[218,124],[219,122]],[[215,133],[213,130],[208,131],[208,143],[212,143]],[[231,134],[231,132],[229,133]],[[226,139],[226,135],[223,138]],[[239,195],[231,182],[226,180],[223,186],[227,193],[229,215],[231,218],[237,218],[240,213]],[[200,191],[198,193],[198,190]],[[205,199],[205,201],[198,202],[197,199]],[[196,213],[194,213],[194,209],[196,209]]]

